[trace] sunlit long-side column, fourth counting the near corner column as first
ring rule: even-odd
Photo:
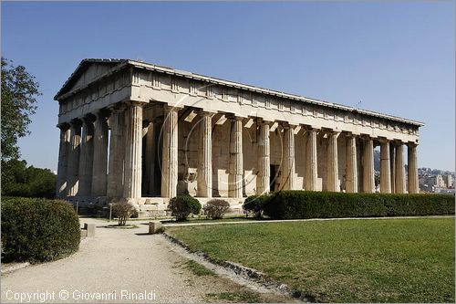
[[[243,119],[236,117],[231,120],[229,197],[243,197],[243,173]]]

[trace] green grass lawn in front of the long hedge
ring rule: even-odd
[[[324,302],[454,302],[454,218],[170,227]]]

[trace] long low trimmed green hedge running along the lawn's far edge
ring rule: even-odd
[[[281,191],[261,196],[256,204],[263,204],[264,215],[275,219],[454,215],[454,195],[446,194]]]

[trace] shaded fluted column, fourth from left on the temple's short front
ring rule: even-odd
[[[108,168],[108,121],[105,111],[98,111],[94,123],[92,196],[106,196]]]

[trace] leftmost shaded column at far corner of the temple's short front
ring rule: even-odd
[[[58,167],[57,167],[57,197],[64,197],[68,194],[67,188],[67,168],[70,131],[67,123],[58,126],[60,129],[60,144],[58,147]]]

